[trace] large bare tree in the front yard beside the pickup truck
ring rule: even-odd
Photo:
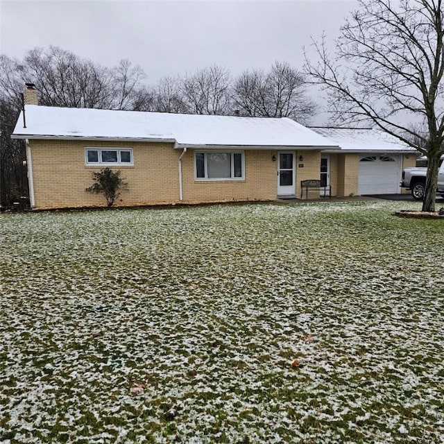
[[[359,5],[341,28],[336,52],[327,50],[325,37],[314,42],[319,60],[306,56],[307,72],[329,93],[336,121],[371,121],[427,155],[422,211],[434,211],[444,144],[443,0]]]

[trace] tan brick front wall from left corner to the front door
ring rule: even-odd
[[[85,148],[133,148],[134,166],[116,165],[128,182],[114,205],[179,203],[178,159],[182,150],[169,143],[80,142],[31,140],[35,207],[106,205],[101,194],[85,189],[92,172],[103,166],[85,165]],[[197,181],[194,152],[182,157],[183,203],[272,200],[277,196],[277,162],[272,151],[245,151],[244,180]]]

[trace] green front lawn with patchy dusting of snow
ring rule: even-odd
[[[444,443],[418,207],[3,214],[0,443]]]

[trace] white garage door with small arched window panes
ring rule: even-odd
[[[362,155],[359,157],[359,194],[395,194],[400,192],[400,155]]]

